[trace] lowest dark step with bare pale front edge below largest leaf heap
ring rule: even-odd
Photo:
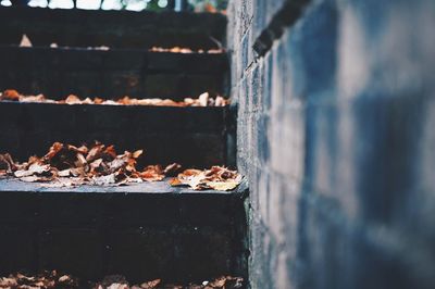
[[[166,183],[44,188],[0,180],[0,274],[58,269],[133,282],[246,277],[246,184],[191,191]]]

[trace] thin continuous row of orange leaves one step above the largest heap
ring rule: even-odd
[[[221,96],[212,98],[209,92],[201,93],[198,98],[185,98],[183,101],[174,101],[171,99],[135,99],[123,97],[117,100],[104,100],[101,98],[80,99],[75,95],[70,95],[63,100],[52,100],[44,95],[24,96],[14,89],[8,89],[0,92],[0,101],[17,101],[17,102],[39,102],[39,103],[58,103],[58,104],[104,104],[104,105],[151,105],[151,106],[225,106],[229,102]]]

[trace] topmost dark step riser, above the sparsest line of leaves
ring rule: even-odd
[[[26,34],[36,47],[210,49],[224,42],[226,28],[216,13],[1,8],[0,18],[0,45],[18,45]]]

